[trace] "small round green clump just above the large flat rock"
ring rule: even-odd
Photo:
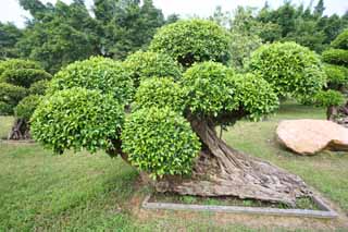
[[[341,106],[345,102],[345,97],[336,90],[321,90],[314,97],[314,103],[320,107]]]

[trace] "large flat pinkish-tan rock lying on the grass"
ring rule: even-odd
[[[348,129],[326,120],[285,120],[276,129],[277,141],[300,155],[323,149],[348,150]]]

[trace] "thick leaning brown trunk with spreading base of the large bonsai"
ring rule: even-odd
[[[211,123],[196,119],[190,123],[203,144],[192,174],[190,178],[165,176],[156,183],[158,192],[236,196],[291,206],[296,198],[311,195],[299,176],[229,147],[216,136]]]

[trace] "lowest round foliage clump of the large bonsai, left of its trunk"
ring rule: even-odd
[[[130,163],[152,178],[190,173],[200,150],[190,124],[170,108],[133,112],[126,119],[122,142]]]

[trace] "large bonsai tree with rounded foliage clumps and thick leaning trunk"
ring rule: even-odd
[[[179,21],[158,32],[151,52],[123,64],[104,58],[73,63],[53,78],[32,133],[60,154],[103,149],[121,156],[159,192],[294,205],[311,194],[300,178],[216,135],[216,125],[260,119],[278,106],[258,72],[237,74],[223,64],[228,38],[212,22]]]

